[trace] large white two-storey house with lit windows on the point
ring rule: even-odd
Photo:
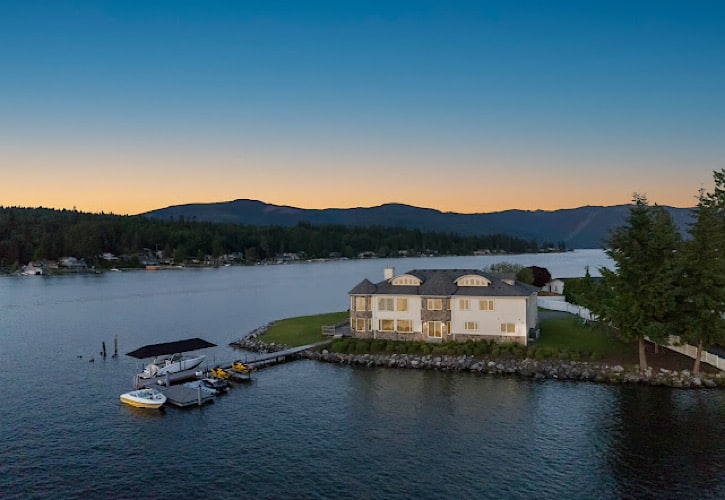
[[[538,289],[477,269],[417,269],[350,290],[353,336],[441,342],[494,339],[526,345]]]

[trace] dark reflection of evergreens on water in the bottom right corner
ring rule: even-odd
[[[622,387],[611,455],[623,497],[725,498],[722,391]]]

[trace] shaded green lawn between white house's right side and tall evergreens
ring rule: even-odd
[[[541,337],[532,347],[554,352],[581,353],[598,358],[629,357],[632,346],[617,339],[611,330],[583,325],[573,316],[541,321]]]

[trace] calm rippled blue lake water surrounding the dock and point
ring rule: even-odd
[[[362,278],[473,257],[0,279],[2,498],[723,498],[725,391],[300,361],[201,409],[122,406],[119,351],[343,310]],[[601,252],[506,260],[575,276]],[[78,356],[82,356],[79,358]],[[90,357],[95,358],[89,363]]]

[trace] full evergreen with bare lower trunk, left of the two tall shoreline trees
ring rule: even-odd
[[[675,310],[677,228],[660,206],[635,194],[626,224],[607,241],[615,270],[602,268],[608,297],[595,305],[599,318],[624,341],[637,341],[639,368],[647,369],[645,340],[664,343],[672,333]]]

